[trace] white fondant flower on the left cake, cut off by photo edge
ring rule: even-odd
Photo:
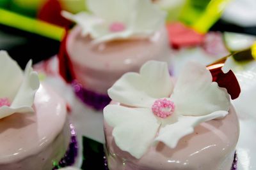
[[[7,52],[0,51],[0,118],[13,113],[31,113],[39,79],[29,60],[23,71]]]

